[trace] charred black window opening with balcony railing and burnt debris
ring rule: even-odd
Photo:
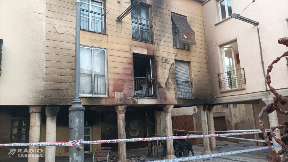
[[[155,79],[152,77],[152,58],[133,56],[135,97],[156,97]]]

